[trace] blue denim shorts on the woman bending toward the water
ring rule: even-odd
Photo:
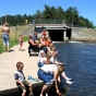
[[[37,75],[38,75],[38,79],[44,81],[44,83],[46,85],[49,85],[49,84],[51,84],[55,81],[52,74],[46,73],[41,69],[38,70]]]

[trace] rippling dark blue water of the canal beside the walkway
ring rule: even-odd
[[[69,41],[55,46],[58,61],[65,62],[65,74],[73,82],[68,85],[63,81],[62,96],[96,96],[96,44]]]

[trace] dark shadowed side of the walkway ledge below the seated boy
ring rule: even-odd
[[[43,85],[44,85],[43,82],[33,84],[33,93],[35,96],[39,96]],[[51,96],[51,93],[56,95],[55,86],[52,86],[49,91],[50,96]],[[22,94],[22,91],[19,87],[0,92],[0,96],[21,96],[21,94]],[[28,96],[28,91],[26,93],[26,96]]]

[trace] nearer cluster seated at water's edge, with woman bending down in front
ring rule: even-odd
[[[37,63],[39,70],[37,74],[38,79],[40,79],[45,83],[41,88],[40,96],[43,96],[43,93],[45,91],[46,96],[48,96],[48,91],[50,89],[53,83],[56,86],[57,94],[61,96],[60,91],[58,88],[58,83],[61,82],[61,77],[63,77],[68,84],[72,84],[72,82],[70,81],[71,79],[69,79],[64,72],[65,63],[59,62],[57,60],[57,55],[58,50],[56,49],[52,43],[50,43],[49,46],[43,47],[39,50],[39,61]]]

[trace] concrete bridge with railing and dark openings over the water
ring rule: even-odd
[[[41,37],[41,32],[44,29],[49,32],[49,37],[53,41],[64,41],[71,39],[72,28],[67,26],[63,21],[56,24],[55,22],[38,23],[34,20],[34,32],[38,33],[38,37]]]

